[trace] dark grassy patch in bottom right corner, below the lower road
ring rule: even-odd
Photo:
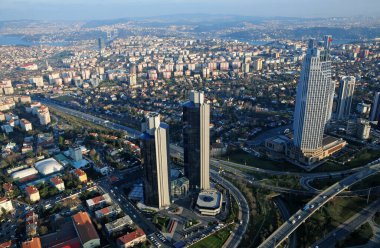
[[[352,232],[346,239],[337,243],[336,247],[350,247],[356,245],[365,245],[373,236],[373,230],[370,224],[365,223]]]

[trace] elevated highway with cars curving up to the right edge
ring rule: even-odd
[[[285,239],[287,239],[303,222],[315,213],[328,201],[346,190],[355,183],[371,176],[380,171],[380,163],[370,163],[365,169],[362,169],[343,180],[331,185],[329,188],[321,192],[319,195],[310,200],[303,209],[298,210],[289,218],[281,227],[272,233],[259,247],[277,247]]]

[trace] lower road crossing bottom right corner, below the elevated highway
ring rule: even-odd
[[[333,248],[335,243],[339,240],[346,238],[350,233],[355,231],[358,227],[367,222],[377,211],[380,210],[380,199],[372,202],[359,213],[352,216],[350,219],[341,224],[337,229],[330,232],[322,240],[319,240],[311,247],[326,247]]]

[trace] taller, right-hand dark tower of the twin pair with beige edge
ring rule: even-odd
[[[191,190],[210,188],[210,105],[203,92],[191,91],[183,105],[185,176]]]

